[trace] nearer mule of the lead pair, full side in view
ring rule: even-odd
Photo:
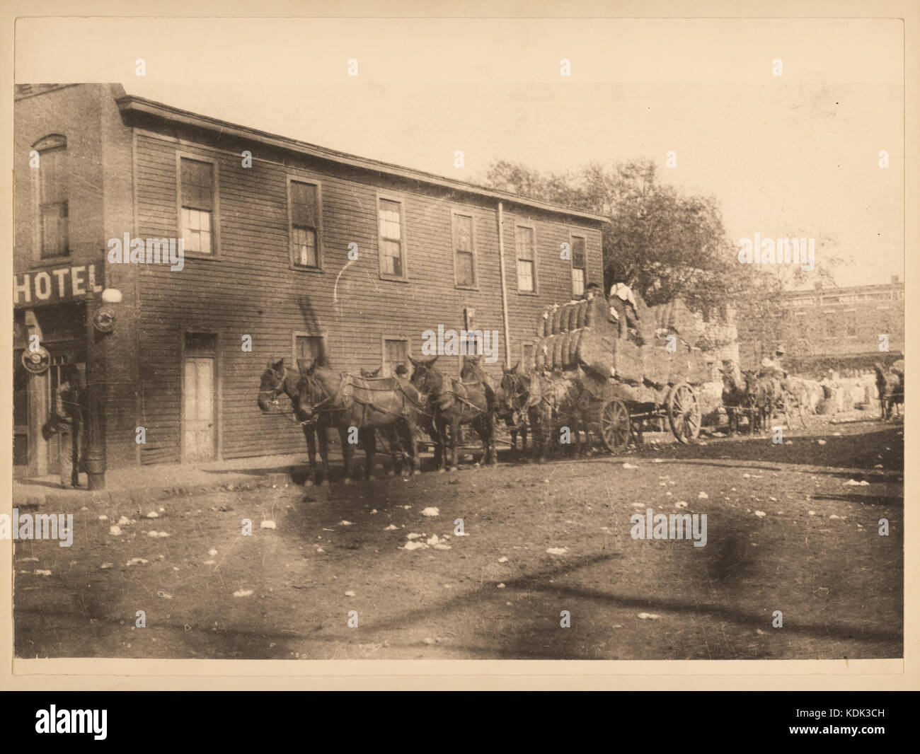
[[[423,402],[408,381],[397,377],[367,379],[302,361],[298,366],[299,408],[305,417],[322,417],[328,426],[339,430],[346,485],[351,484],[355,440],[364,449],[364,479],[373,477],[377,430],[389,440],[393,466],[387,473],[401,473],[403,457],[408,455],[411,474],[419,474],[415,433]]]

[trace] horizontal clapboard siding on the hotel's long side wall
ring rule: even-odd
[[[251,145],[249,145],[251,148]],[[407,337],[420,356],[422,333],[464,327],[464,308],[476,310],[477,329],[496,330],[500,373],[504,360],[498,213],[494,200],[455,196],[448,189],[324,164],[290,154],[254,152],[241,165],[242,144],[225,150],[177,143],[139,131],[136,138],[137,218],[141,237],[176,237],[176,154],[200,155],[217,164],[219,253],[186,257],[182,271],[145,266],[141,291],[139,371],[147,441],[145,463],[178,461],[181,433],[183,331],[216,333],[220,341],[221,405],[218,428],[224,458],[297,452],[302,432],[284,417],[263,416],[256,405],[259,375],[271,357],[292,358],[294,332],[322,335],[330,364],[342,370],[374,369],[385,337]],[[292,269],[288,247],[287,177],[318,181],[321,195],[322,271]],[[408,281],[381,280],[377,249],[377,197],[403,202]],[[452,213],[474,218],[477,290],[454,285]],[[587,221],[551,216],[536,224],[539,295],[518,296],[513,217],[506,211],[505,273],[512,330],[512,359],[533,338],[536,317],[549,304],[570,298],[570,263],[559,244],[571,232],[585,234],[588,280],[600,280],[600,234]],[[349,264],[348,248],[359,258]],[[555,249],[555,261],[553,250]],[[343,271],[344,270],[344,271]],[[341,273],[339,275],[339,273]],[[338,287],[337,287],[338,280]],[[241,348],[252,337],[252,351]],[[456,372],[458,360],[442,357]],[[281,399],[282,406],[287,403]]]

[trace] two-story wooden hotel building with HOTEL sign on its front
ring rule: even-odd
[[[15,128],[22,474],[54,470],[40,428],[63,363],[94,388],[95,447],[109,467],[296,452],[293,423],[256,406],[270,357],[386,373],[443,326],[496,331],[497,373],[533,359],[547,305],[602,282],[603,217],[118,85],[18,86]],[[137,239],[157,251],[181,239],[182,263],[132,262]],[[124,258],[112,261],[118,246]],[[115,315],[108,334],[94,326],[103,307]],[[51,355],[44,373],[21,366],[30,336]]]

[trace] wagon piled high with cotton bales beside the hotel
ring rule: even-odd
[[[697,389],[706,382],[707,364],[687,341],[692,314],[674,303],[635,302],[633,326],[622,321],[625,307],[617,314],[603,295],[557,304],[537,326],[535,369],[561,372],[578,384],[589,428],[611,452],[641,442],[652,419],[666,417],[684,443],[696,440],[702,424]],[[679,326],[681,314],[690,326]]]

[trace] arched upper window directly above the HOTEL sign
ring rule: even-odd
[[[52,134],[36,143],[34,149],[39,153],[40,257],[67,257],[67,140]]]

